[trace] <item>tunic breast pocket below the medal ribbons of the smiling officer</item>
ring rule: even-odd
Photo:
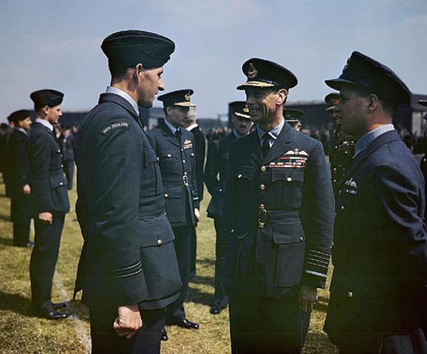
[[[277,208],[300,208],[304,169],[273,168],[269,205]]]

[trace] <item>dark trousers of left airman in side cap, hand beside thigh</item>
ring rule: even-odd
[[[52,297],[52,280],[59,255],[65,215],[54,216],[52,224],[34,219],[34,249],[30,260],[32,306],[48,306]]]

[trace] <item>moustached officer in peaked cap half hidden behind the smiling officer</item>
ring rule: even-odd
[[[233,131],[220,140],[213,140],[209,145],[205,167],[205,183],[212,198],[207,207],[207,217],[213,218],[216,232],[215,243],[215,293],[211,304],[210,313],[218,315],[222,309],[228,306],[229,299],[222,289],[220,280],[221,269],[221,231],[222,231],[222,207],[224,202],[225,180],[230,158],[231,143],[234,140],[249,134],[252,127],[249,108],[244,101],[230,103],[233,110]]]

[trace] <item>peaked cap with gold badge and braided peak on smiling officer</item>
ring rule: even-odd
[[[289,90],[298,84],[298,79],[282,65],[265,59],[252,58],[242,65],[243,74],[247,81],[237,87],[244,90],[247,87],[277,87]]]

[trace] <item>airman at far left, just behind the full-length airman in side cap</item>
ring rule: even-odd
[[[13,216],[13,245],[34,247],[30,241],[30,160],[28,134],[32,124],[30,112],[20,110],[10,115],[14,132],[10,135],[11,209]]]

